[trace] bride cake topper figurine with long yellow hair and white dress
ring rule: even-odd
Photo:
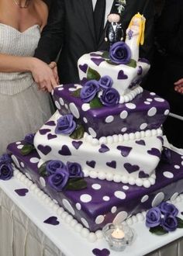
[[[138,12],[133,16],[126,29],[125,43],[131,49],[131,58],[135,61],[139,59],[139,45],[143,45],[145,22],[145,17]]]

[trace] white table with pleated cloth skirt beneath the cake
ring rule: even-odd
[[[102,238],[91,243],[74,230],[62,215],[57,215],[50,209],[50,200],[43,203],[34,193],[34,189],[22,183],[25,175],[16,172],[9,181],[0,181],[0,255],[1,256],[93,256],[93,250],[98,249],[97,256],[119,256],[122,252],[111,251],[102,254],[108,244]],[[27,178],[26,178],[27,179]],[[33,187],[33,186],[32,186]],[[31,187],[31,188],[32,188]],[[26,195],[18,195],[15,189],[29,189]],[[183,195],[173,202],[180,211],[183,210]],[[43,223],[49,216],[57,217],[57,225]],[[133,223],[135,240],[123,251],[124,256],[182,256],[183,229],[157,237],[150,234],[144,225],[144,220]],[[174,242],[173,242],[174,241]],[[171,244],[170,244],[171,243]],[[158,248],[161,248],[160,250]],[[153,252],[152,252],[153,251]]]

